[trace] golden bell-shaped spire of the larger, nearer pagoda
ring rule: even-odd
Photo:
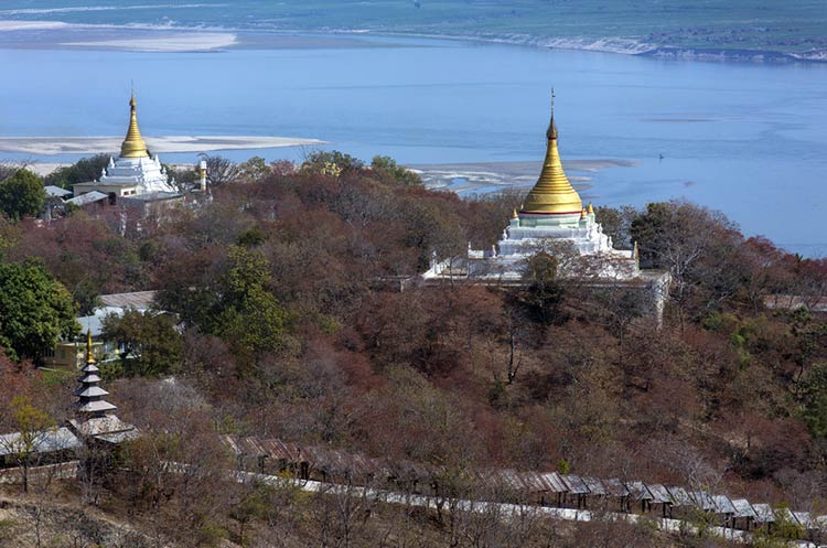
[[[583,202],[577,193],[566,172],[562,170],[560,151],[557,149],[557,123],[555,123],[555,92],[551,90],[551,120],[546,131],[548,144],[543,171],[528,193],[522,213],[538,214],[576,214],[583,208]]]

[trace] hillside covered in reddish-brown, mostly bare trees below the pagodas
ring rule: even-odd
[[[488,248],[520,198],[463,201],[389,159],[319,152],[301,165],[245,163],[211,203],[123,236],[117,211],[0,219],[0,265],[40,268],[86,308],[159,291],[171,314],[105,323],[126,348],[101,357],[106,388],[144,436],[87,487],[170,542],[516,547],[560,534],[399,508],[386,520],[358,499],[235,485],[221,434],[439,466],[463,496],[477,493],[464,482],[472,470],[509,468],[824,508],[827,321],[766,297],[816,302],[827,262],[669,202],[597,211],[619,246],[637,241],[644,266],[672,272],[663,325],[623,288],[554,276],[416,283],[434,255]],[[37,348],[0,333],[21,358],[0,363],[0,426],[20,428],[20,409],[65,418],[74,375],[33,369]],[[331,540],[348,527],[358,533]],[[563,531],[559,546],[663,546],[645,528],[594,527]]]

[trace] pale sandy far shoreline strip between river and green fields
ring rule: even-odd
[[[35,33],[35,34],[32,34]],[[51,34],[51,35],[49,35]],[[325,39],[330,36],[330,39]],[[333,36],[336,36],[333,39]],[[345,40],[345,36],[347,40]],[[778,50],[696,47],[662,45],[619,36],[550,37],[523,33],[490,34],[463,32],[443,34],[393,29],[235,29],[151,25],[107,25],[60,21],[0,20],[0,49],[96,50],[132,52],[222,52],[228,49],[369,47],[394,44],[370,43],[364,37],[408,37],[505,44],[551,50],[615,53],[685,61],[748,63],[825,63],[827,49],[794,53]],[[362,39],[362,40],[359,40]],[[341,41],[341,42],[340,42]]]

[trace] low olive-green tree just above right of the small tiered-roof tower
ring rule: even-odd
[[[123,374],[129,377],[175,373],[181,367],[183,337],[175,318],[154,311],[127,310],[104,319],[104,339],[117,341]]]

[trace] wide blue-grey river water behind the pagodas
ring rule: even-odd
[[[595,203],[686,197],[749,235],[827,254],[827,64],[369,40],[213,53],[0,49],[0,136],[120,135],[135,82],[148,136],[316,138],[404,163],[539,160],[554,85],[565,159],[638,162],[599,172]],[[302,151],[226,155],[253,153]]]

